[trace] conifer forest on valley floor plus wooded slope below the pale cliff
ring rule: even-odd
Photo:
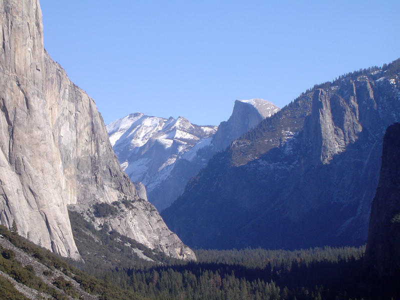
[[[364,266],[363,246],[292,251],[196,249],[197,261],[187,262],[155,255],[106,226],[97,231],[77,213],[70,212],[70,219],[85,260],[78,266],[143,298],[374,299],[384,286]],[[125,243],[140,248],[154,261],[138,259]],[[390,287],[380,292],[394,294]]]

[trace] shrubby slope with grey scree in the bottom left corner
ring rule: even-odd
[[[0,226],[0,298],[142,299],[131,288],[96,279],[4,226]]]

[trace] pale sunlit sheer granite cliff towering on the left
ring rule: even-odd
[[[129,199],[141,221],[120,215],[126,225],[115,230],[194,258],[156,211],[147,218],[155,209],[137,200],[94,101],[44,50],[38,0],[0,0],[0,20],[0,223],[15,221],[22,236],[78,259],[67,205],[86,211],[98,201]]]

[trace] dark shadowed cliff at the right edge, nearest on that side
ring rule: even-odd
[[[384,135],[365,258],[381,276],[394,278],[400,272],[400,123],[390,125]]]

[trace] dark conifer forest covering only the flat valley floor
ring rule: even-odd
[[[115,269],[108,276],[150,299],[347,300],[398,294],[365,267],[364,247],[195,252],[197,262]]]

